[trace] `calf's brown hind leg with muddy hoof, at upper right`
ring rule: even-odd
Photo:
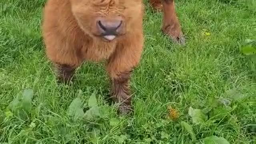
[[[175,12],[174,0],[150,0],[150,4],[152,4],[152,6],[155,8],[160,7],[160,2],[162,2],[162,7],[164,10],[162,31],[165,34],[168,34],[168,36],[170,36],[174,42],[185,44],[185,38]]]

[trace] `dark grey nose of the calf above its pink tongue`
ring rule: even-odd
[[[122,20],[105,21],[99,20],[97,26],[102,36],[116,36],[122,25]]]

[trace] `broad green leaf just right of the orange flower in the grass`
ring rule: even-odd
[[[200,124],[207,120],[207,116],[202,110],[194,109],[191,106],[188,109],[188,114],[191,116],[193,124]]]

